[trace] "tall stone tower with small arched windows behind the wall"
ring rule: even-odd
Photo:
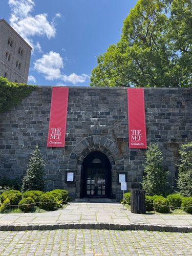
[[[27,83],[31,50],[6,20],[0,19],[0,76],[10,82]]]

